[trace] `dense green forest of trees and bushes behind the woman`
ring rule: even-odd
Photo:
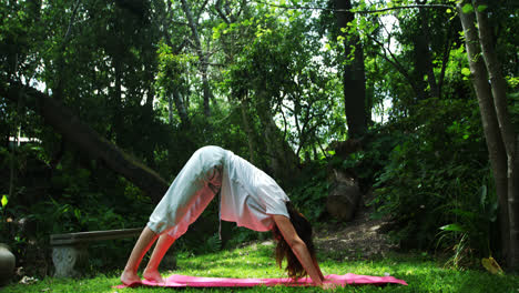
[[[0,242],[49,274],[50,234],[143,226],[191,154],[214,144],[274,176],[316,223],[343,224],[326,212],[330,170],[343,170],[401,249],[517,267],[518,11],[2,1]],[[216,218],[213,204],[177,249],[264,236],[226,225],[222,243]],[[96,244],[92,266],[131,244]]]

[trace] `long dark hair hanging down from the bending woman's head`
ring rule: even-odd
[[[286,209],[288,215],[291,216],[291,222],[294,225],[294,229],[297,232],[297,235],[305,242],[306,247],[312,256],[312,260],[315,262],[315,247],[314,242],[312,241],[312,224],[306,220],[306,218],[299,213],[291,202],[286,202]],[[279,267],[282,267],[283,260],[286,257],[286,272],[288,276],[296,280],[307,275],[307,272],[301,264],[297,256],[292,251],[292,247],[288,245],[286,240],[283,238],[277,225],[274,225],[272,229],[274,239],[277,241],[276,246],[276,262]]]

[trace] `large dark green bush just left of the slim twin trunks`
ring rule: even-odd
[[[391,235],[404,247],[448,249],[464,241],[467,251],[486,254],[497,200],[478,108],[474,101],[431,99],[417,109],[393,125],[400,143],[375,174],[376,215],[391,216]],[[450,231],[455,226],[460,231]]]

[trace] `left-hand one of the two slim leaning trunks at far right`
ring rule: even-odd
[[[475,26],[472,12],[464,13],[462,7],[469,1],[462,1],[457,4],[459,18],[465,32],[465,44],[470,67],[472,87],[479,102],[481,121],[484,125],[485,138],[496,182],[496,193],[499,201],[499,224],[501,232],[501,251],[506,259],[510,257],[510,224],[508,209],[508,179],[507,179],[507,158],[502,143],[501,132],[499,131],[498,118],[492,100],[490,84],[487,79],[487,70],[481,59],[481,49],[479,47],[478,32]],[[508,265],[512,265],[509,263]]]

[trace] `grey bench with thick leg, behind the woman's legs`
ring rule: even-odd
[[[140,235],[142,228],[108,231],[78,232],[52,234],[52,262],[57,277],[74,277],[81,275],[81,269],[89,263],[88,245],[90,242],[133,238]],[[130,252],[129,252],[130,253]]]

